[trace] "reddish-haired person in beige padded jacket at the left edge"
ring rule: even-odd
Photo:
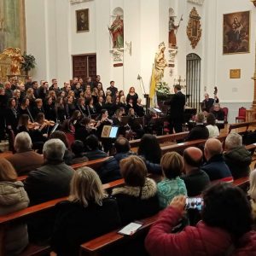
[[[16,212],[28,206],[29,199],[23,183],[17,181],[17,173],[11,163],[0,159],[0,215]],[[20,252],[28,244],[26,224],[14,224],[9,226],[4,237],[5,255],[20,255]]]

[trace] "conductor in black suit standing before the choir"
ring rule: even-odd
[[[165,102],[166,105],[170,105],[169,109],[169,123],[170,132],[183,131],[183,119],[184,119],[184,106],[186,103],[186,96],[181,92],[181,86],[179,84],[174,85],[175,95],[170,102]]]

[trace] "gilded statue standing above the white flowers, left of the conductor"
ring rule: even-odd
[[[165,49],[165,43],[162,42],[159,45],[159,51],[155,54],[154,57],[154,79],[156,84],[158,84],[164,77],[165,67],[167,66]]]

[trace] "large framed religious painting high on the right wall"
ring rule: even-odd
[[[250,51],[250,11],[224,15],[223,54]]]

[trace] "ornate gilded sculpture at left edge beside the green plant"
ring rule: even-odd
[[[5,61],[10,59],[11,67],[10,72],[12,75],[20,75],[20,63],[24,61],[22,55],[20,54],[20,48],[8,47],[3,50],[0,54],[0,60]]]

